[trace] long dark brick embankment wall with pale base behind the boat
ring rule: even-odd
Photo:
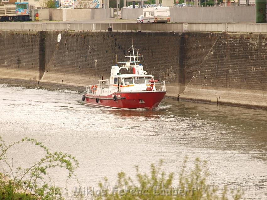
[[[58,34],[61,40],[58,41]],[[180,100],[267,108],[267,35],[0,32],[0,78],[85,87],[110,77],[113,55],[140,49],[144,69]]]

